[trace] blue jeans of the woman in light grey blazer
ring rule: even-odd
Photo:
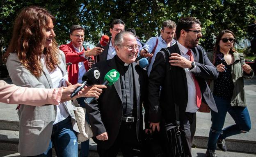
[[[33,157],[52,157],[53,144],[57,157],[78,157],[77,134],[73,130],[70,117],[53,125],[53,132],[47,150],[43,154]]]

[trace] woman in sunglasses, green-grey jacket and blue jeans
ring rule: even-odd
[[[245,64],[244,55],[235,51],[234,44],[234,33],[229,30],[221,31],[217,36],[214,51],[207,54],[219,71],[219,76],[210,84],[218,113],[211,110],[212,126],[206,157],[216,157],[216,144],[221,150],[227,151],[226,137],[246,133],[251,129],[245,102],[244,78],[250,79],[254,73],[251,67]],[[227,112],[235,124],[222,129]]]

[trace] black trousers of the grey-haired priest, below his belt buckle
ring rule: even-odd
[[[121,122],[121,127],[114,144],[107,150],[97,146],[100,157],[116,157],[121,150],[123,157],[143,157],[142,146],[137,140],[136,121]]]

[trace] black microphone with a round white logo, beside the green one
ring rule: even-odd
[[[82,88],[85,87],[85,85],[93,84],[94,82],[98,81],[99,78],[100,78],[100,71],[98,67],[89,69],[85,73],[85,75],[83,75],[82,77],[82,81],[83,81],[82,86],[75,88],[75,90],[73,91],[70,97],[74,97],[75,95],[77,95],[79,91],[81,91]]]

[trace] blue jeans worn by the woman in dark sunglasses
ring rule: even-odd
[[[251,129],[251,119],[247,107],[231,106],[230,101],[216,96],[213,97],[218,108],[218,113],[211,110],[212,126],[210,128],[207,150],[216,149],[218,138],[225,139],[232,135],[246,133]],[[234,119],[235,124],[222,129],[227,112]]]

